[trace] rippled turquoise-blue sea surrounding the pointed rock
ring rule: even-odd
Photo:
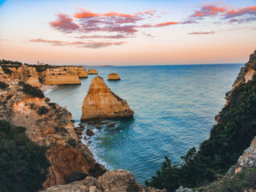
[[[89,145],[99,163],[108,169],[127,169],[138,182],[150,179],[165,155],[172,161],[208,138],[214,117],[225,104],[242,64],[189,66],[106,66],[94,67],[108,87],[127,100],[135,111],[131,120],[111,120],[116,126],[92,128],[95,135],[82,142]],[[108,82],[117,72],[120,81]],[[63,85],[47,91],[51,101],[72,112],[80,123],[83,99],[91,80],[82,85]]]

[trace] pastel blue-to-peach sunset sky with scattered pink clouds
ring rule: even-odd
[[[255,49],[256,0],[0,0],[0,59],[238,64]]]

